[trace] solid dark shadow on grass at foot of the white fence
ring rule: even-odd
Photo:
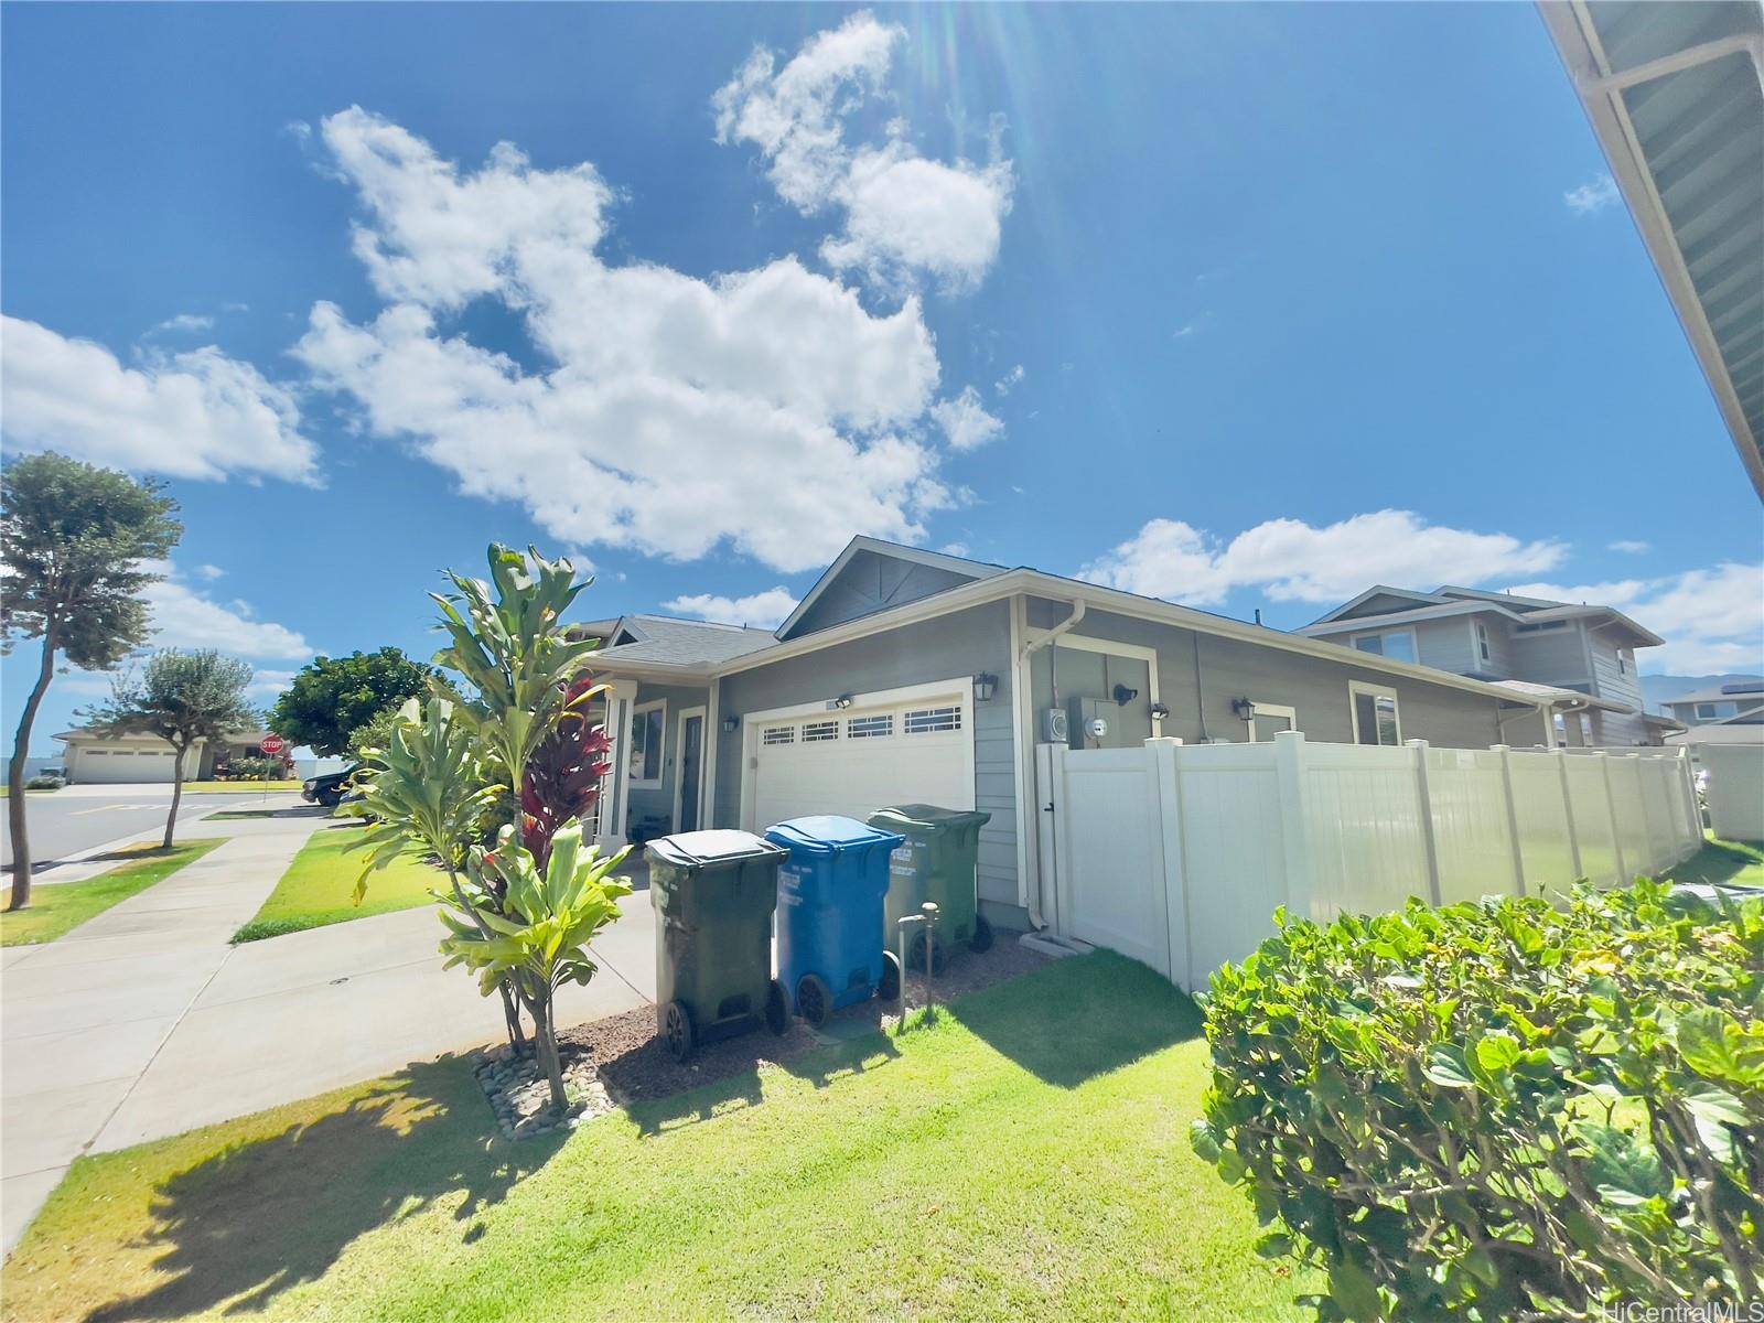
[[[944,1014],[1060,1088],[1201,1035],[1201,1013],[1187,993],[1113,951],[1055,960]]]

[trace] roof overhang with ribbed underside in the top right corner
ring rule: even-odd
[[[1764,497],[1764,7],[1538,0]]]

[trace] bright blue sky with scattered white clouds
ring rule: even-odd
[[[1529,5],[0,26],[5,448],[166,476],[157,642],[266,695],[432,651],[492,538],[596,614],[774,619],[871,533],[1282,626],[1542,584],[1644,670],[1764,662],[1757,499]]]

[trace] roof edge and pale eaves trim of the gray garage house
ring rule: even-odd
[[[1305,639],[1302,635],[1288,633],[1286,630],[1274,630],[1265,624],[1247,624],[1244,621],[1231,619],[1230,616],[1215,616],[1207,610],[1196,610],[1194,607],[1180,607],[1173,602],[1140,596],[1138,593],[1125,593],[1118,587],[1104,587],[1081,579],[1064,579],[1060,575],[1032,570],[1030,566],[1005,570],[997,564],[963,561],[956,556],[919,552],[914,547],[896,547],[894,543],[878,542],[877,538],[854,538],[852,545],[847,547],[847,552],[852,552],[854,549],[877,550],[886,556],[908,552],[912,556],[937,556],[938,561],[949,561],[984,573],[974,573],[974,577],[956,587],[916,598],[912,602],[903,602],[896,607],[887,607],[838,624],[829,624],[824,630],[815,630],[813,633],[806,633],[797,639],[774,639],[760,630],[736,630],[736,626],[676,621],[658,616],[637,616],[630,619],[651,635],[656,633],[656,623],[681,630],[683,635],[679,646],[667,649],[653,647],[651,644],[654,639],[649,639],[642,644],[609,647],[598,654],[593,665],[596,670],[614,674],[706,681],[714,676],[729,676],[737,670],[769,665],[773,662],[781,662],[783,658],[815,653],[822,647],[833,647],[852,639],[882,633],[884,630],[893,630],[912,621],[947,616],[956,610],[967,610],[968,607],[1005,600],[1023,593],[1028,596],[1051,598],[1055,602],[1085,603],[1087,607],[1095,607],[1097,610],[1110,610],[1132,616],[1136,619],[1173,624],[1222,639],[1238,639],[1261,647],[1274,647],[1282,653],[1298,653],[1341,665],[1360,667],[1364,670],[1379,670],[1390,676],[1416,679],[1429,684],[1466,690],[1514,707],[1536,706],[1535,699],[1522,697],[1514,690],[1503,690],[1496,684],[1489,684],[1487,681],[1471,679],[1469,676],[1457,676],[1450,670],[1438,670],[1434,667],[1422,667],[1409,662],[1394,662],[1390,658],[1374,656],[1372,653],[1342,656],[1341,644]],[[827,575],[822,575],[822,580],[826,579]],[[709,651],[704,646],[704,640],[709,639],[709,635],[704,633],[706,630],[727,632],[725,637],[734,635],[730,640],[732,646],[723,656],[702,654]],[[686,632],[691,632],[691,635],[686,637]],[[1584,700],[1588,695],[1577,693],[1575,697]]]

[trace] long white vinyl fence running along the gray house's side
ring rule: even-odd
[[[1656,873],[1702,845],[1681,750],[1044,744],[1053,926],[1185,990],[1274,931],[1487,894]]]

